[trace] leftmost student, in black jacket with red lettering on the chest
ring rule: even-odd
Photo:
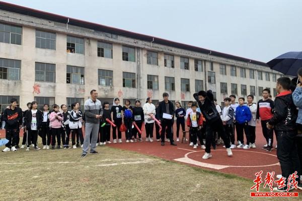
[[[5,128],[6,133],[5,137],[9,140],[9,142],[5,145],[6,148],[2,151],[17,151],[17,138],[19,127],[22,124],[22,110],[17,107],[17,99],[13,98],[11,100],[11,107],[5,109],[3,114],[3,119],[5,120]]]

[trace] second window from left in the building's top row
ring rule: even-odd
[[[36,30],[36,48],[55,50],[56,34]]]

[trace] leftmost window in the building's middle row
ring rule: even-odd
[[[0,79],[20,80],[21,61],[0,58]]]

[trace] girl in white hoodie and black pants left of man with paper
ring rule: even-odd
[[[156,114],[155,105],[152,103],[152,98],[148,97],[146,103],[142,107],[144,114],[144,122],[146,129],[146,141],[153,142],[154,119],[150,115]],[[139,139],[141,141],[142,139]]]

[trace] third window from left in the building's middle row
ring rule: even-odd
[[[66,83],[68,84],[85,84],[83,67],[67,66]]]

